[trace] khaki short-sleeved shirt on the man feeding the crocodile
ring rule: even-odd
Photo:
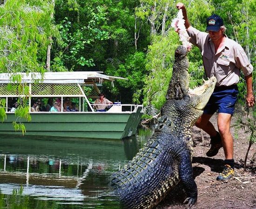
[[[226,36],[224,45],[215,52],[209,34],[190,26],[188,29],[191,43],[199,47],[204,69],[208,78],[215,76],[216,86],[237,84],[242,69],[244,76],[252,73],[250,64],[242,46]]]

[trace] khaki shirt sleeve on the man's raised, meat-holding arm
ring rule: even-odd
[[[197,29],[195,29],[192,26],[189,26],[189,28],[187,29],[190,42],[191,44],[199,47],[199,49],[202,51],[202,46],[204,45],[205,41],[208,40],[209,34],[199,31]]]

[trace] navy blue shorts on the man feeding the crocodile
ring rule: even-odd
[[[233,115],[237,95],[237,85],[215,87],[208,103],[203,109],[203,113],[213,115],[218,111],[218,113],[228,113]]]

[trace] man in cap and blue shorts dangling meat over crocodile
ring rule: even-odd
[[[200,32],[190,26],[186,8],[182,3],[176,5],[182,9],[185,27],[191,38],[191,43],[199,47],[207,77],[217,78],[216,88],[206,105],[204,112],[196,122],[196,126],[206,131],[211,138],[211,147],[206,153],[208,157],[215,156],[223,146],[225,153],[224,169],[217,176],[218,181],[229,180],[235,175],[233,159],[233,138],[230,133],[231,117],[234,114],[237,100],[240,69],[242,69],[247,85],[246,102],[249,107],[255,104],[252,89],[253,67],[238,43],[229,39],[225,34],[225,27],[220,16],[213,14],[207,19],[205,32]],[[209,119],[218,112],[218,131]]]

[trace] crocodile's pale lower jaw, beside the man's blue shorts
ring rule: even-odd
[[[211,77],[204,81],[204,84],[196,87],[195,89],[189,89],[189,96],[192,100],[193,106],[197,110],[202,110],[207,104],[212,92],[216,85],[216,78]]]

